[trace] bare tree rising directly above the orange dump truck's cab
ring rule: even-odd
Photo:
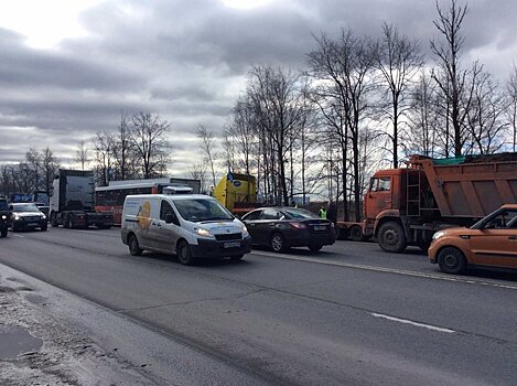
[[[387,111],[387,116],[392,125],[389,138],[392,143],[394,168],[398,168],[400,118],[410,106],[407,103],[409,86],[423,65],[423,57],[416,41],[400,35],[397,28],[387,23],[383,25],[383,39],[377,43],[374,54],[389,96],[390,111]]]

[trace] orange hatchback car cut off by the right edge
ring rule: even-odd
[[[517,204],[503,205],[470,228],[437,232],[428,254],[448,274],[464,274],[467,266],[517,268]]]

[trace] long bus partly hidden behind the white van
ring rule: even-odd
[[[123,201],[129,194],[200,193],[200,180],[187,179],[112,181],[109,186],[95,189],[95,211],[112,213],[114,225],[120,225]]]

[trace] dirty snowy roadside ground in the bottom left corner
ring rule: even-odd
[[[26,283],[0,274],[0,326],[19,326],[41,349],[0,360],[2,385],[152,385],[151,379],[128,362],[117,358],[117,349],[106,352],[88,336],[60,324],[44,310]]]

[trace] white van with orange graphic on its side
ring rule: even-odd
[[[196,258],[239,260],[251,250],[246,225],[203,194],[128,195],[121,237],[133,256],[144,249],[175,253],[184,265]]]

